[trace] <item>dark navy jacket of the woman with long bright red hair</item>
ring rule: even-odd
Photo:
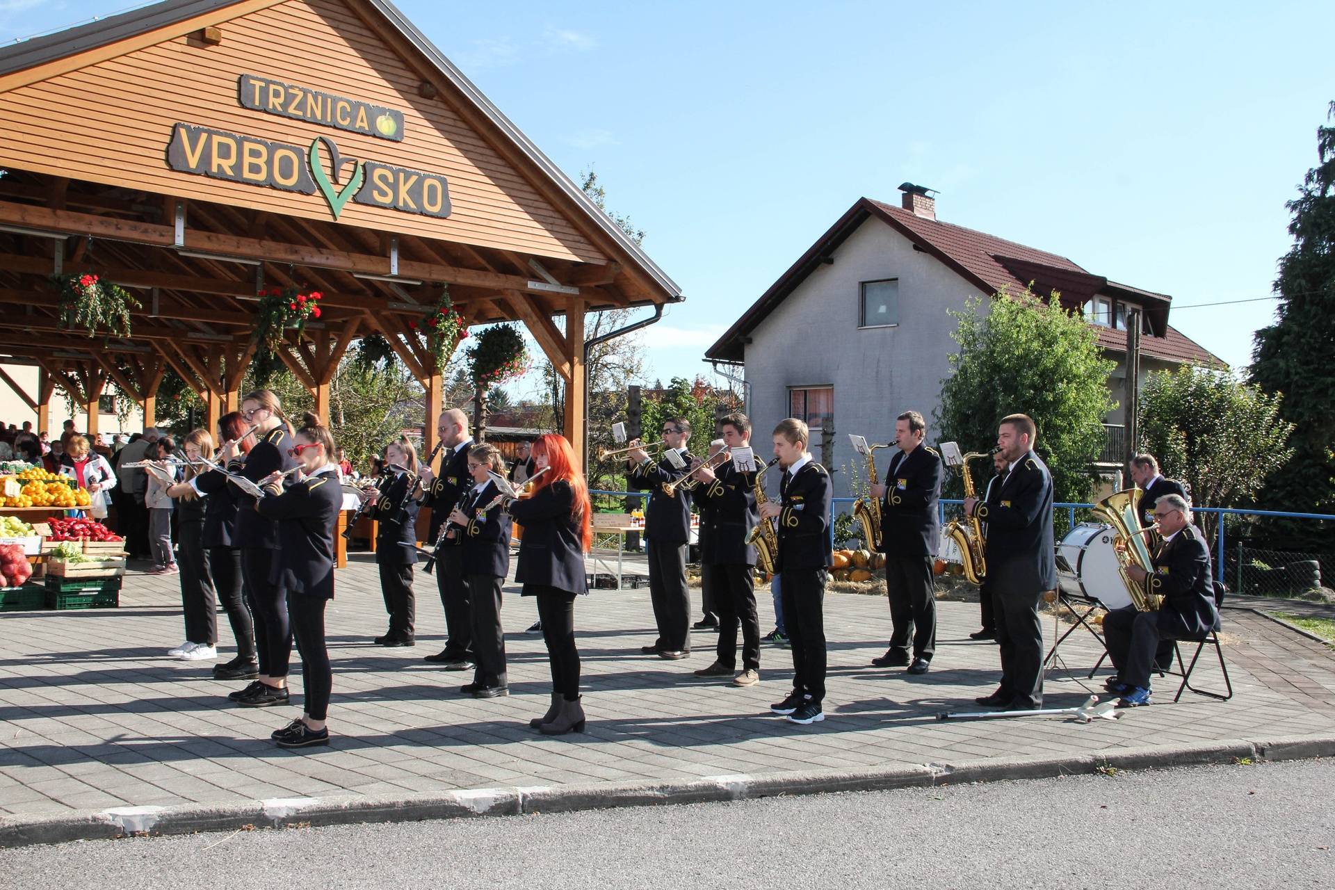
[[[514,579],[525,584],[525,596],[534,592],[529,584],[571,594],[589,592],[579,520],[570,515],[574,502],[570,483],[558,479],[510,504],[510,515],[523,526]]]

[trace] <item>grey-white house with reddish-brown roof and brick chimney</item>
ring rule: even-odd
[[[762,432],[794,416],[832,470],[854,470],[846,434],[893,438],[894,416],[916,410],[928,440],[948,356],[957,350],[947,310],[999,291],[1057,291],[1099,332],[1117,362],[1108,380],[1119,407],[1105,419],[1103,463],[1117,466],[1127,404],[1127,318],[1141,320],[1140,375],[1224,362],[1168,324],[1172,298],[1111,282],[1064,256],[936,217],[929,189],[905,183],[900,207],[858,199],[705,354],[744,366],[748,415]],[[1016,406],[1023,410],[1024,406]],[[832,428],[829,454],[822,428]],[[980,447],[985,443],[961,443]],[[844,474],[836,494],[846,495]]]

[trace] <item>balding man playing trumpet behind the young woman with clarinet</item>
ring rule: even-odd
[[[422,504],[431,508],[431,526],[427,540],[434,542],[459,502],[459,492],[469,486],[469,448],[473,436],[469,435],[469,418],[458,408],[441,412],[437,420],[437,434],[445,444],[441,455],[441,472],[422,470],[422,486],[426,494]],[[449,638],[445,648],[425,660],[438,663],[447,671],[466,671],[473,667],[473,618],[469,610],[469,586],[463,580],[462,551],[458,547],[441,548],[441,564],[435,567],[435,584],[441,592],[441,606],[445,608],[445,630]]]

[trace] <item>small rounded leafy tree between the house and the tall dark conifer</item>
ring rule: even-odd
[[[1224,371],[1156,371],[1140,394],[1136,444],[1159,459],[1165,476],[1191,484],[1195,504],[1250,504],[1294,454],[1284,444],[1294,424],[1280,419],[1280,402]],[[1211,516],[1202,519],[1212,532]]]

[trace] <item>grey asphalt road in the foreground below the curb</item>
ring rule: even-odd
[[[1335,759],[0,850],[0,887],[1330,887]]]

